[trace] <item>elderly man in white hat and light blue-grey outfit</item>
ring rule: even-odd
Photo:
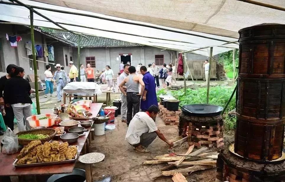
[[[56,81],[56,94],[57,94],[57,102],[61,102],[61,90],[65,85],[69,82],[69,77],[67,76],[64,70],[61,70],[61,65],[56,64],[55,68],[57,69],[54,72],[53,79]]]

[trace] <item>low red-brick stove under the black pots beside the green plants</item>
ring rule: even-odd
[[[180,109],[179,111],[170,111],[167,110],[163,105],[158,103],[159,112],[158,115],[163,120],[165,125],[178,125],[179,123],[179,114],[182,112]]]

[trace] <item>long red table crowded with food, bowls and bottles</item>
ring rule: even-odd
[[[72,172],[79,155],[89,152],[90,131],[103,103],[83,100],[74,104],[27,118],[32,130],[14,134],[8,129],[1,140],[0,164],[5,167],[0,178],[18,176],[20,181],[23,176]]]

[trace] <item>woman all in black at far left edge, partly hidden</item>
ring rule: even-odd
[[[9,64],[7,66],[7,68],[6,68],[6,72],[8,74],[0,78],[0,105],[4,105],[5,106],[5,111],[6,111],[6,115],[3,116],[3,119],[4,119],[4,123],[12,131],[14,130],[14,112],[13,112],[13,109],[10,106],[9,102],[4,100],[3,95],[5,95],[5,93],[3,93],[3,91],[4,91],[4,87],[5,87],[6,81],[9,78],[11,78],[11,73],[15,72],[17,67],[18,66],[16,66],[15,64]]]

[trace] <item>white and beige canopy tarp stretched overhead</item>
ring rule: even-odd
[[[238,48],[238,44],[222,44],[237,41],[237,31],[241,28],[260,23],[285,23],[284,11],[264,8],[261,6],[247,4],[235,0],[163,0],[159,1],[159,3],[158,1],[154,0],[41,0],[45,3],[50,4],[28,0],[20,1],[27,5],[94,15],[111,19],[104,20],[100,18],[65,14],[35,8],[35,10],[39,11],[41,14],[47,16],[53,21],[58,22],[61,26],[74,32],[81,32],[98,37],[106,37],[126,42],[183,51],[209,46],[214,47],[213,55],[229,51],[233,48]],[[279,5],[283,6],[284,3],[281,2]],[[67,7],[73,7],[76,9]],[[220,8],[217,9],[217,7]],[[105,9],[104,12],[103,9]],[[0,4],[0,10],[0,20],[21,24],[30,24],[30,12],[25,7]],[[112,16],[107,16],[104,14]],[[117,18],[114,16],[128,19]],[[116,22],[117,20],[126,21],[126,23]],[[133,20],[144,21],[147,23]],[[66,25],[66,23],[72,25]],[[141,26],[132,25],[129,23],[139,23]],[[155,23],[157,25],[167,25],[168,27],[157,26],[150,23]],[[189,26],[191,24],[196,24],[196,26],[192,26],[192,28],[190,28]],[[58,28],[53,23],[48,22],[46,19],[38,16],[37,14],[34,14],[34,25],[41,27]],[[176,32],[144,27],[143,25],[153,25],[159,28],[174,30]],[[181,33],[177,33],[177,31],[180,31]],[[187,34],[183,34],[183,32]],[[143,37],[139,37],[137,35]],[[193,53],[209,56],[208,49],[201,49],[194,51]]]

